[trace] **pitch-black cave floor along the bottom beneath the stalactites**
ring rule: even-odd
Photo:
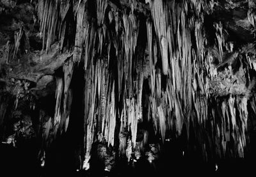
[[[88,171],[76,171],[67,158],[52,159],[51,167],[44,168],[33,157],[31,150],[13,148],[10,145],[1,143],[0,162],[1,176],[172,176],[173,174],[196,175],[196,176],[223,176],[224,174],[252,174],[253,162],[250,159],[222,160],[218,164],[204,163],[196,160],[195,157],[187,158],[182,155],[164,153],[159,160],[148,162],[141,157],[136,162],[116,162],[113,171],[104,171],[94,166]],[[56,156],[57,157],[57,156]],[[60,162],[62,161],[62,162]],[[54,164],[54,166],[52,166]],[[66,165],[65,165],[66,164]],[[216,170],[216,165],[218,169]]]

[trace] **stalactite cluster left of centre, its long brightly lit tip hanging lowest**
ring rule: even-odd
[[[84,160],[84,168],[88,166],[88,160],[90,159],[91,148],[93,139],[95,137],[95,124],[96,117],[98,115],[100,121],[98,124],[102,132],[102,135],[108,142],[113,144],[113,132],[115,130],[115,91],[111,91],[111,97],[109,96],[108,76],[106,76],[106,65],[102,60],[97,60],[94,65],[90,61],[90,66],[86,69],[85,78],[85,96],[84,96],[84,127],[86,129],[86,155]],[[104,77],[103,77],[104,75]],[[104,80],[102,80],[104,78]],[[115,89],[115,87],[113,88]],[[110,102],[110,99],[113,99]],[[99,100],[99,101],[97,101]],[[99,105],[97,105],[97,102]],[[109,107],[108,107],[109,106]],[[111,108],[110,110],[108,108]],[[97,115],[95,113],[97,111]],[[114,130],[108,129],[108,126],[112,126]]]

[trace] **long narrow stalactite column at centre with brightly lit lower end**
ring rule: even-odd
[[[138,29],[139,29],[139,20],[133,14],[129,15],[125,14],[122,18],[124,22],[124,51],[125,51],[125,60],[124,66],[122,66],[122,59],[120,59],[119,66],[122,67],[121,72],[123,72],[124,68],[124,76],[125,76],[125,90],[124,92],[124,127],[128,127],[128,131],[131,131],[131,146],[135,147],[136,145],[136,132],[137,132],[137,122],[138,119],[141,118],[141,94],[142,94],[142,78],[143,71],[141,71],[141,64],[138,67],[138,78],[134,78],[136,80],[136,85],[134,85],[132,81],[132,60],[134,59],[134,52],[136,50],[137,39],[138,39]],[[120,76],[122,76],[121,73]],[[118,85],[122,85],[122,77],[119,79]],[[135,99],[132,94],[132,88],[136,87],[138,90],[136,94],[137,98]],[[121,87],[120,87],[121,88]],[[126,119],[127,117],[127,119]],[[127,122],[127,124],[126,124]]]

